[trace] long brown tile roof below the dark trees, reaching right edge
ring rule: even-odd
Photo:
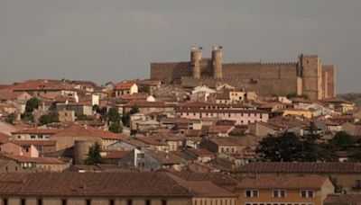
[[[255,162],[241,166],[241,173],[361,173],[358,163],[268,163]]]

